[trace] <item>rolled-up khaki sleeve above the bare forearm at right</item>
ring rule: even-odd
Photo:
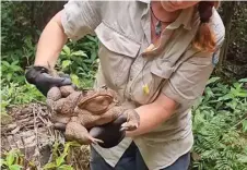
[[[203,93],[212,71],[212,57],[198,53],[180,64],[162,93],[177,104],[189,107]]]

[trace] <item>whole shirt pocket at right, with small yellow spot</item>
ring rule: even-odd
[[[131,99],[140,105],[155,100],[163,84],[174,72],[174,64],[167,59],[155,59],[146,63],[145,68],[129,83]],[[143,87],[146,87],[146,93]]]

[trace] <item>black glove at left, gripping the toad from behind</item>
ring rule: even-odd
[[[44,66],[32,66],[25,73],[25,78],[30,84],[34,84],[44,96],[47,96],[48,90],[54,86],[60,87],[72,84],[69,75],[52,77],[49,75],[48,69]]]

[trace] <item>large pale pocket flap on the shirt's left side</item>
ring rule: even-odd
[[[95,33],[97,34],[101,42],[108,50],[131,58],[137,57],[141,45],[127,36],[124,36],[124,34],[120,34],[116,29],[111,28],[108,24],[104,22],[101,23],[95,29]]]

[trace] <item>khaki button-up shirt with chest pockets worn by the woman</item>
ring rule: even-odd
[[[201,52],[191,46],[200,23],[195,8],[183,10],[178,19],[151,42],[149,1],[69,1],[62,25],[69,38],[86,34],[99,39],[99,68],[95,88],[115,89],[127,107],[152,102],[163,93],[179,104],[175,113],[152,132],[126,137],[114,148],[93,147],[115,166],[132,141],[151,170],[172,165],[193,144],[190,108],[203,93],[219,51]],[[216,12],[210,22],[217,47],[224,40],[224,25]],[[149,50],[146,50],[149,49]]]

